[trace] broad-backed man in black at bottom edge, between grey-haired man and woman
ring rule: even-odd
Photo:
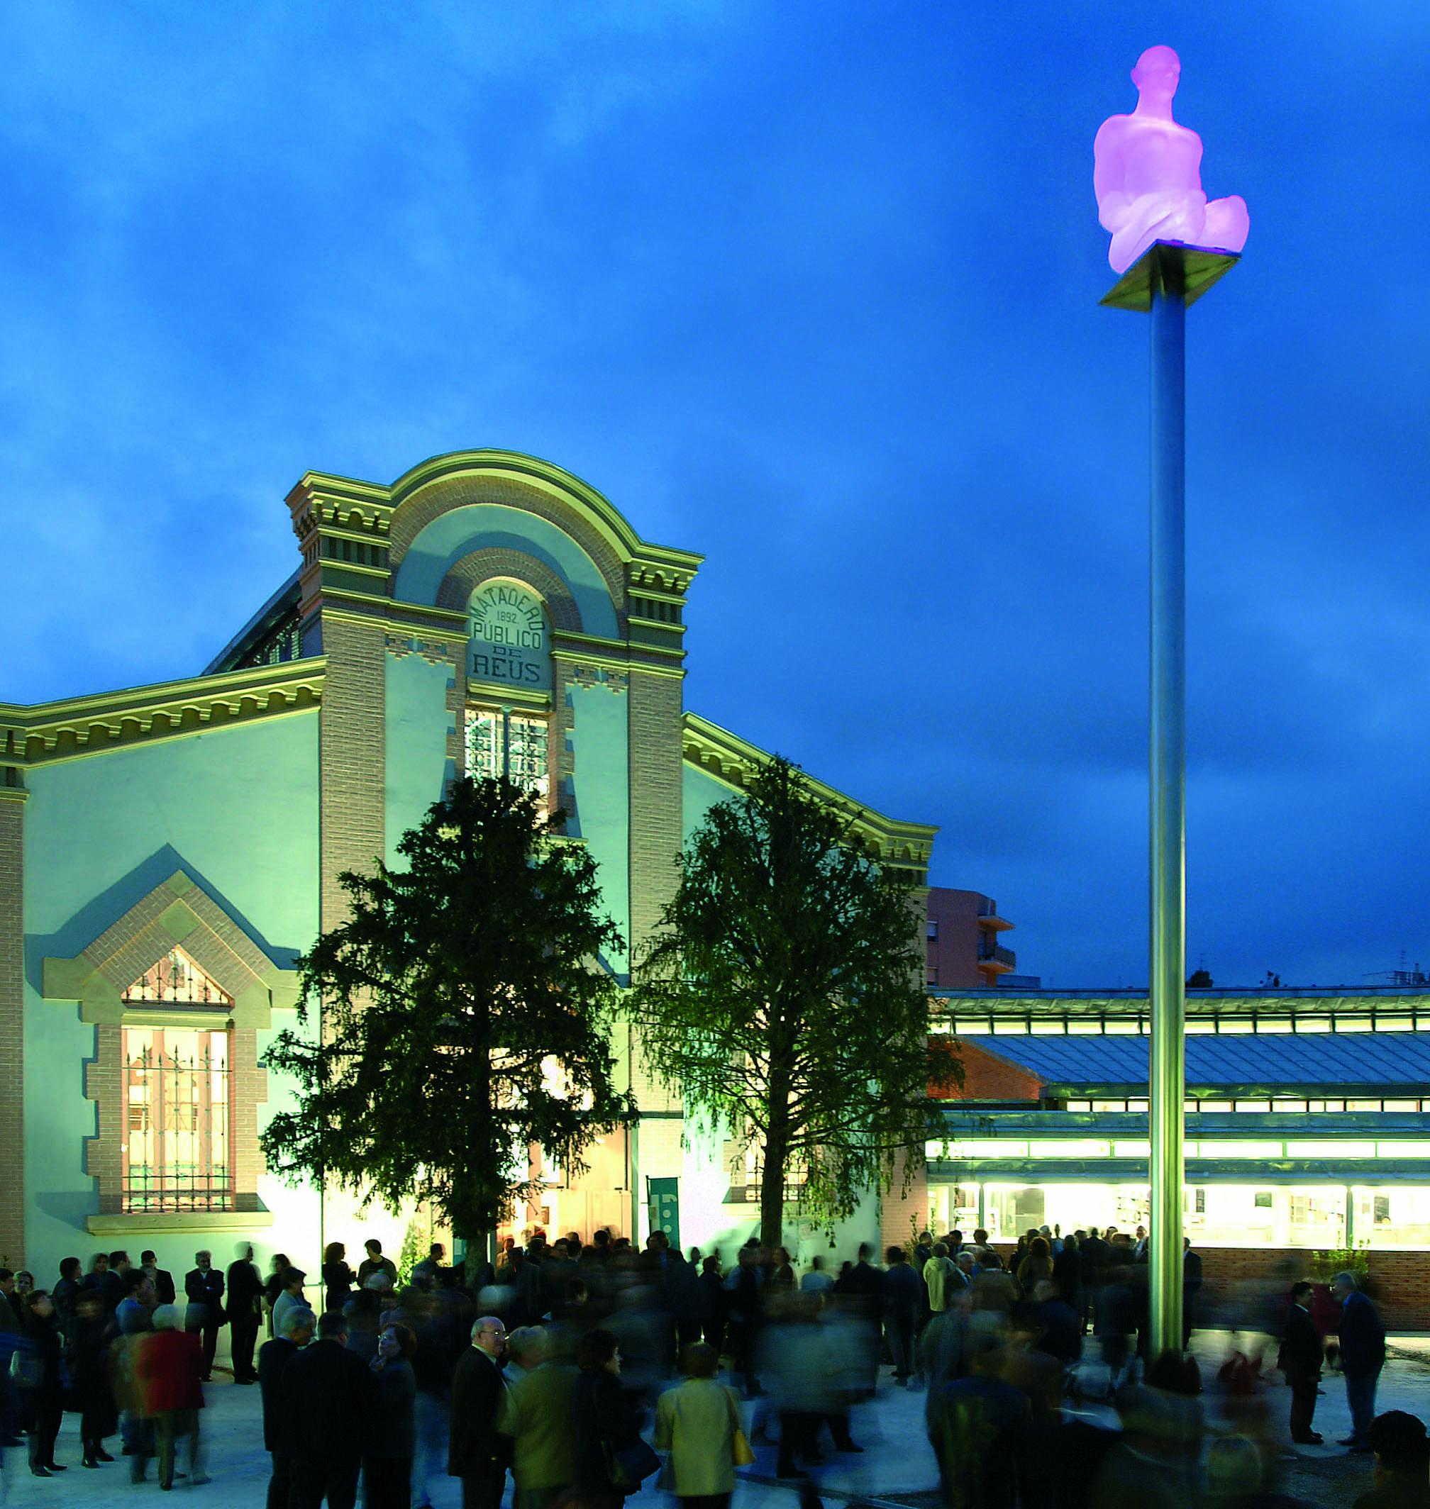
[[[378,1414],[378,1379],[347,1351],[341,1314],[325,1314],[313,1346],[288,1360],[278,1397],[293,1446],[291,1509],[319,1509],[325,1497],[328,1509],[353,1509],[362,1447]]]

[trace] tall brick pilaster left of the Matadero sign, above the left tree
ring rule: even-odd
[[[323,611],[328,681],[319,724],[319,927],[344,922],[344,869],[371,872],[384,853],[387,635],[378,620]]]

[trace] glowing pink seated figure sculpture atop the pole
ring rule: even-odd
[[[1207,202],[1202,139],[1172,119],[1181,71],[1170,47],[1149,47],[1133,69],[1137,109],[1104,121],[1092,146],[1098,220],[1113,234],[1107,260],[1117,273],[1154,241],[1217,252],[1246,246],[1246,201],[1232,195]]]

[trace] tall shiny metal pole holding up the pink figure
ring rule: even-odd
[[[1187,297],[1181,247],[1152,267],[1151,1073],[1152,1357],[1182,1349],[1187,916]]]

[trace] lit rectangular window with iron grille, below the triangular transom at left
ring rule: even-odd
[[[233,1210],[227,1032],[124,1029],[121,1209]]]

